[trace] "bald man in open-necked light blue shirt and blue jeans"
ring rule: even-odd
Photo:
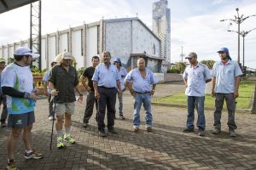
[[[131,95],[134,98],[133,129],[137,132],[140,126],[140,110],[143,105],[145,110],[146,128],[152,131],[151,95],[154,95],[156,83],[152,71],[145,67],[145,60],[137,60],[137,68],[131,70],[125,77]],[[153,84],[150,88],[150,84]]]

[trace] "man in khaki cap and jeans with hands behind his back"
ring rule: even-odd
[[[207,65],[197,61],[197,54],[191,52],[188,57],[189,64],[183,72],[183,81],[186,85],[185,94],[188,96],[187,127],[183,133],[194,132],[195,108],[197,110],[198,135],[204,136],[206,119],[204,113],[206,82],[211,82],[212,76]]]

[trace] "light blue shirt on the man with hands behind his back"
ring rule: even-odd
[[[211,71],[207,65],[198,63],[195,67],[188,65],[183,72],[183,78],[187,80],[187,96],[202,97],[206,94],[206,80],[211,79]]]

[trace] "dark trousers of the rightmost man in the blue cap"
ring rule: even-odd
[[[221,128],[221,113],[224,105],[224,100],[226,101],[228,109],[228,126],[231,130],[235,130],[235,111],[236,111],[236,99],[234,99],[234,94],[215,94],[215,111],[214,111],[214,124],[215,128]]]

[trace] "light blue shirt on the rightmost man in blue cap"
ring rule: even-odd
[[[236,61],[229,59],[226,65],[222,61],[216,62],[212,68],[212,77],[216,77],[215,93],[234,93],[236,77],[241,75],[241,68]]]

